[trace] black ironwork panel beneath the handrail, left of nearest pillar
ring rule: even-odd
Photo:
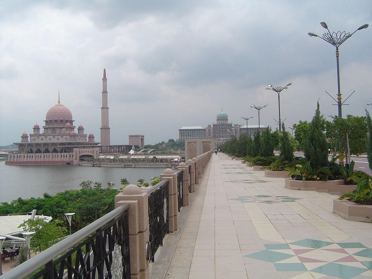
[[[45,264],[32,279],[130,279],[128,211],[67,253]]]

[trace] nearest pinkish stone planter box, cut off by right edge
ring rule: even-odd
[[[346,199],[342,201],[334,199],[333,213],[345,218],[346,220],[371,223],[372,205],[360,205]]]

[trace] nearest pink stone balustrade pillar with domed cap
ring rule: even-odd
[[[146,244],[149,241],[148,230],[148,194],[142,193],[137,185],[128,185],[123,192],[115,196],[115,208],[129,203],[129,249],[131,259],[131,278],[150,279]]]

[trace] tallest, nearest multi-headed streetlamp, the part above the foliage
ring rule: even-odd
[[[358,29],[356,29],[353,33],[346,33],[345,31],[341,32],[330,32],[327,26],[327,23],[321,22],[320,25],[327,29],[327,32],[325,32],[321,37],[314,34],[314,33],[307,33],[310,37],[319,37],[323,41],[326,41],[328,44],[333,45],[336,47],[336,68],[337,68],[337,107],[338,107],[338,116],[339,118],[342,118],[342,102],[341,102],[341,90],[340,90],[340,67],[339,67],[339,47],[340,45],[349,39],[356,31],[366,29],[368,28],[368,24],[363,24]]]

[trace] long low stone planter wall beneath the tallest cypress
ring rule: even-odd
[[[356,185],[344,185],[344,183],[345,182],[343,179],[328,181],[302,181],[287,178],[285,180],[285,187],[291,190],[314,190],[333,195],[342,195],[356,189]]]

